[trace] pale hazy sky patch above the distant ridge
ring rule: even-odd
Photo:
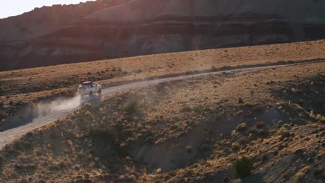
[[[51,6],[53,4],[76,4],[94,0],[1,0],[0,18],[20,15],[33,10],[35,7]]]

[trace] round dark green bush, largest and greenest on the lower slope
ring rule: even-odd
[[[240,178],[251,175],[253,169],[253,160],[249,157],[242,157],[235,162],[236,175]]]

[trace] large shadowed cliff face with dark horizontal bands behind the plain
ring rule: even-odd
[[[0,69],[325,37],[325,0],[131,0],[0,45]]]

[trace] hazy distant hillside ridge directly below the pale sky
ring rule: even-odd
[[[101,0],[76,5],[43,6],[22,15],[0,19],[0,43],[22,42],[40,37],[80,21],[96,10],[126,1],[128,0]]]

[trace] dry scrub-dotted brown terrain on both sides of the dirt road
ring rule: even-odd
[[[103,96],[7,144],[0,182],[324,182],[324,54],[319,40],[0,72],[3,125],[83,80],[110,87],[293,63]],[[240,157],[253,162],[242,179]]]

